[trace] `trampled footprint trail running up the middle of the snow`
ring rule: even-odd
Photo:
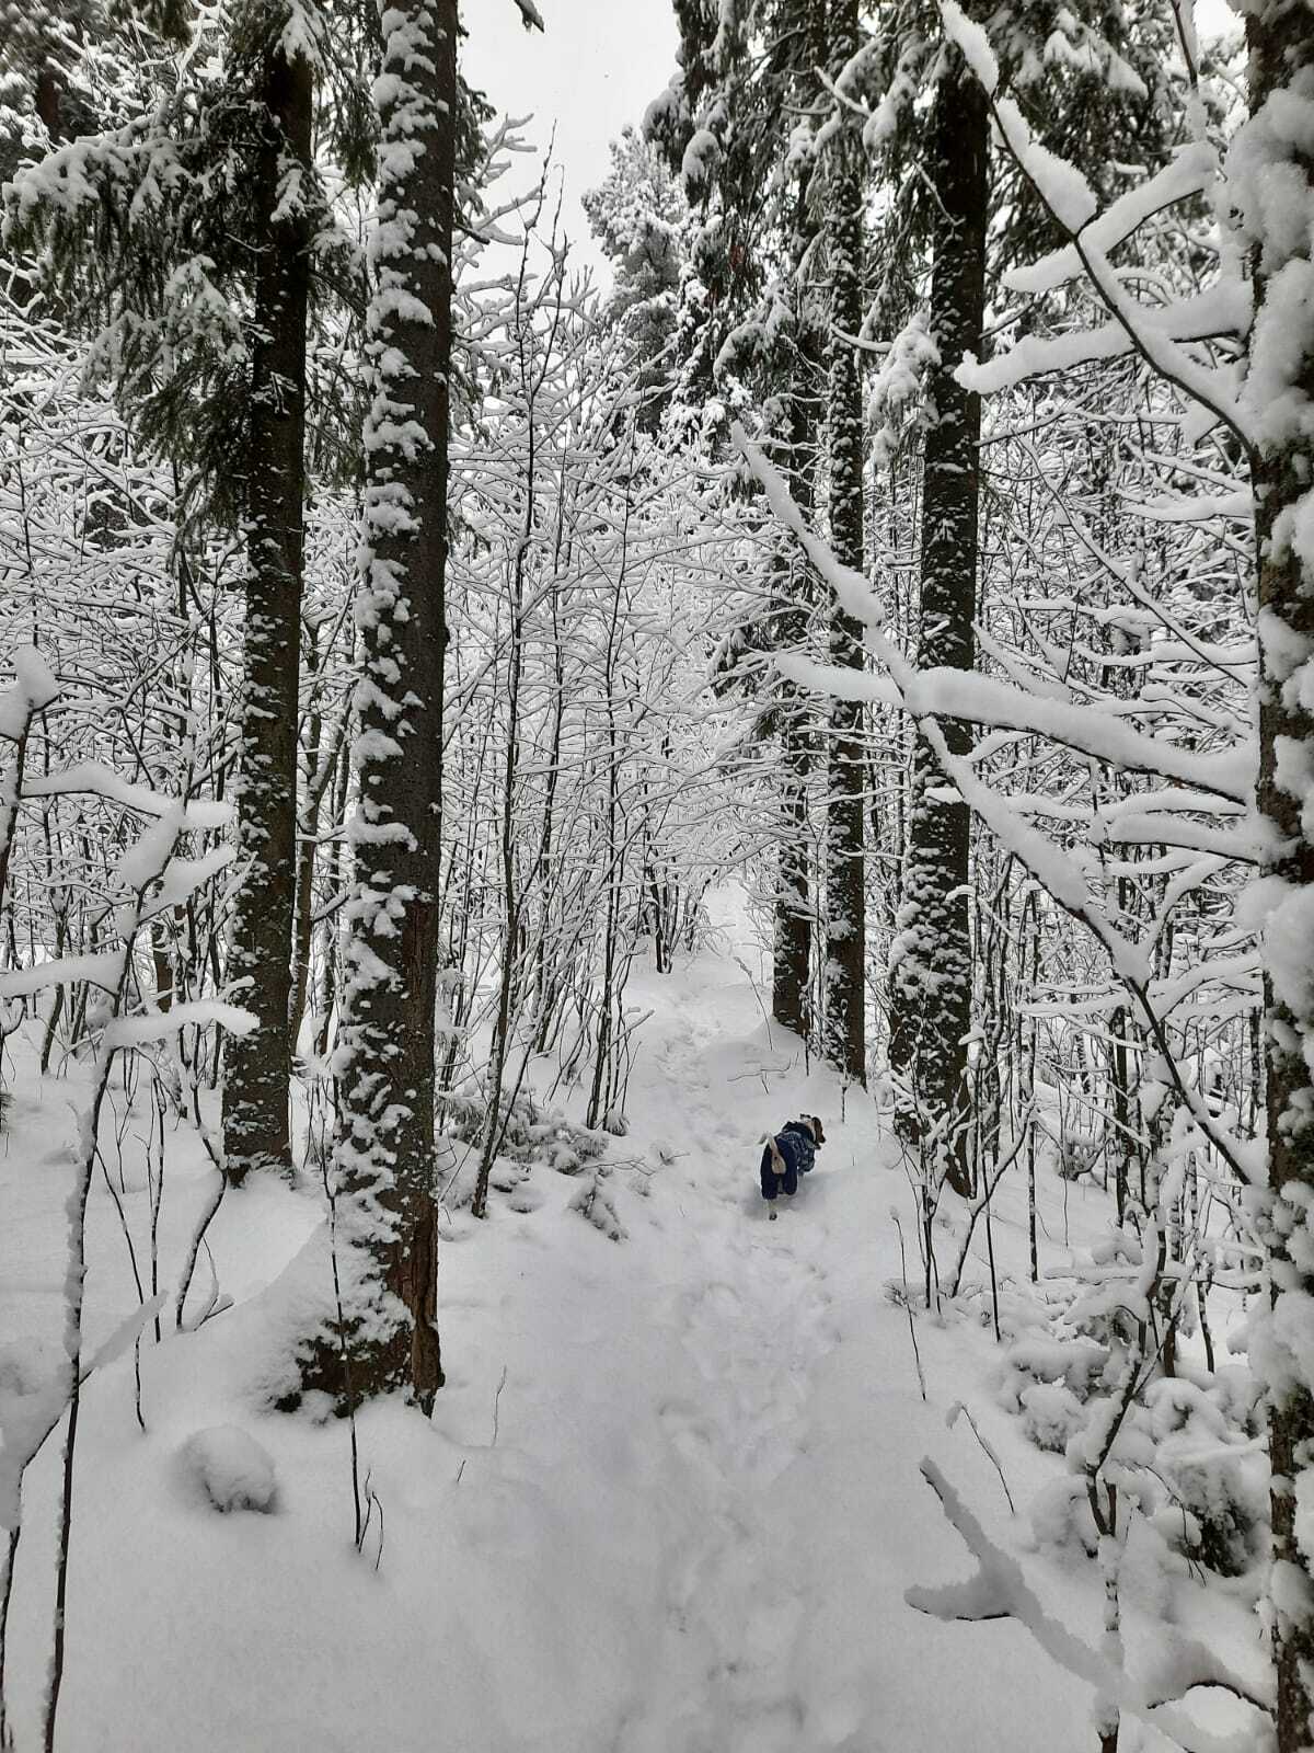
[[[718,1118],[724,1106],[701,1073],[706,1045],[697,1033],[673,1041],[661,1068],[687,1092],[690,1125],[727,1146],[710,1153],[710,1213],[692,1229],[683,1281],[659,1313],[687,1357],[687,1392],[662,1399],[659,1416],[696,1471],[696,1513],[671,1565],[650,1697],[624,1725],[618,1753],[773,1753],[795,1744],[804,1720],[781,1660],[804,1602],[773,1539],[773,1499],[806,1446],[827,1302],[816,1269],[790,1243],[797,1213],[771,1232],[745,1220],[745,1141]],[[680,1702],[675,1718],[671,1700]]]

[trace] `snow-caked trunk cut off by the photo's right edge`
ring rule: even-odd
[[[1314,14],[1291,0],[1258,0],[1247,21],[1253,119],[1268,179],[1286,160],[1303,188],[1291,210],[1314,202],[1314,153],[1307,135],[1277,121],[1265,105],[1288,95],[1305,103],[1314,79]],[[1293,93],[1302,96],[1296,100]],[[1251,145],[1251,151],[1254,147]],[[1242,200],[1258,209],[1242,161]],[[1293,179],[1295,181],[1295,179]],[[1275,184],[1277,186],[1277,184]],[[1284,186],[1284,184],[1282,184]],[[1300,1539],[1298,1499],[1314,1481],[1314,1381],[1303,1343],[1305,1308],[1314,1294],[1314,550],[1302,540],[1298,514],[1309,507],[1307,422],[1314,407],[1314,340],[1307,317],[1295,317],[1293,287],[1309,284],[1307,226],[1263,235],[1267,209],[1247,212],[1254,252],[1256,317],[1251,358],[1261,365],[1265,405],[1256,407],[1253,456],[1256,547],[1260,561],[1260,810],[1279,852],[1268,866],[1274,912],[1265,927],[1265,1033],[1272,1320],[1256,1334],[1253,1357],[1268,1387],[1272,1458],[1272,1643],[1277,1667],[1277,1753],[1314,1746],[1314,1550]],[[1305,295],[1307,296],[1307,295]],[[1275,394],[1281,375],[1286,393]],[[1288,1304],[1284,1308],[1284,1304]],[[1305,1518],[1302,1518],[1305,1520]]]

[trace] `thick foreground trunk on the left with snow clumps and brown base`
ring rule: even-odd
[[[456,0],[384,12],[373,405],[357,596],[359,815],[338,1045],[349,1395],[443,1381],[434,1222],[434,1003],[447,645]],[[342,1227],[342,1225],[340,1225]]]

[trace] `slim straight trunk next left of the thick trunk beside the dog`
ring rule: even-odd
[[[830,67],[839,74],[858,47],[858,0],[830,4]],[[830,272],[830,547],[864,570],[862,380],[853,338],[862,328],[862,156],[851,130],[830,145],[827,263]],[[830,610],[830,661],[862,668],[862,628]],[[867,1082],[865,1027],[865,738],[860,701],[839,699],[829,724],[825,848],[825,1050],[855,1083]]]

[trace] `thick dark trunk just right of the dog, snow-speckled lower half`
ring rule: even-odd
[[[953,372],[976,352],[985,326],[988,112],[957,49],[941,77],[930,123],[934,273],[930,330],[939,365],[927,382],[930,429],[922,500],[922,622],[918,664],[971,670],[976,661],[976,573],[981,401]],[[953,754],[971,743],[948,719]],[[890,1064],[904,1083],[899,1127],[909,1143],[936,1129],[950,1185],[971,1194],[967,1045],[972,1022],[969,910],[971,817],[944,796],[936,756],[918,736],[904,852],[901,931],[890,955]]]

